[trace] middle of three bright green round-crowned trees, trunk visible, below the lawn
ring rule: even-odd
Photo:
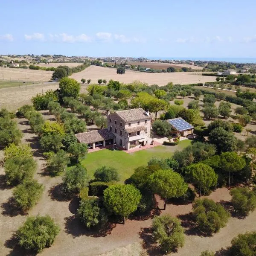
[[[166,209],[167,198],[180,197],[188,189],[183,177],[172,169],[158,170],[149,176],[149,182],[154,193],[164,198]]]

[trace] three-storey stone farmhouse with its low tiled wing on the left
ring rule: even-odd
[[[108,128],[76,134],[80,143],[88,148],[116,145],[129,150],[151,143],[151,116],[142,108],[116,111],[107,114]]]

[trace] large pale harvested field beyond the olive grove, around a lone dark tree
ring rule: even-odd
[[[81,82],[81,79],[91,79],[91,83],[97,83],[98,79],[110,79],[122,83],[131,83],[134,80],[146,82],[148,84],[166,85],[169,82],[174,84],[194,84],[215,81],[214,76],[201,76],[195,72],[175,72],[175,73],[144,73],[139,71],[126,70],[124,75],[116,74],[115,68],[90,66],[87,69],[74,73],[71,78]]]

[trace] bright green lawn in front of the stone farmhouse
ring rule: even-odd
[[[113,166],[121,176],[120,182],[124,182],[138,166],[146,165],[152,157],[167,158],[171,157],[175,150],[182,150],[191,144],[191,140],[182,140],[177,146],[157,146],[140,150],[131,154],[124,151],[113,151],[103,149],[90,154],[81,162],[86,167],[88,174],[93,178],[93,173],[100,166]]]

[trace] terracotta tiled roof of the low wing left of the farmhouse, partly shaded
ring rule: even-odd
[[[93,143],[102,140],[113,139],[115,135],[108,129],[100,129],[95,131],[87,131],[80,134],[75,134],[80,143]]]

